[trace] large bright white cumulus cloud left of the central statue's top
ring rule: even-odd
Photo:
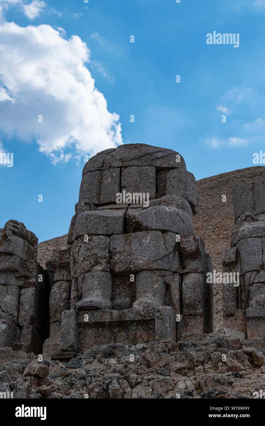
[[[54,163],[122,144],[119,115],[108,111],[85,67],[89,55],[80,37],[66,40],[49,25],[2,22],[1,130],[35,139]]]

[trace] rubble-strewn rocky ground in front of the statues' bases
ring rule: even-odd
[[[68,362],[2,348],[0,392],[36,399],[260,397],[265,339],[194,337],[197,343],[98,345]]]

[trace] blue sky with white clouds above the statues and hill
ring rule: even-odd
[[[0,151],[14,158],[0,165],[0,227],[67,233],[83,155],[120,143],[176,150],[196,179],[265,152],[265,0],[0,7]],[[214,31],[239,33],[239,47],[207,45]]]

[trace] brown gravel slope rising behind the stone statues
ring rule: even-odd
[[[231,230],[234,227],[232,188],[249,181],[265,179],[265,167],[255,166],[234,170],[197,181],[199,210],[194,216],[194,232],[202,236],[206,251],[210,254],[214,269],[222,271],[222,250],[230,247]],[[222,202],[222,196],[226,201]],[[45,268],[54,248],[67,245],[67,234],[39,244],[38,260]],[[216,284],[216,322],[222,325],[222,285]]]

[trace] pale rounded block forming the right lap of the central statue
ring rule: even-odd
[[[179,198],[182,199],[182,206],[185,203],[188,204],[185,199]],[[188,206],[191,210],[190,204]],[[185,206],[185,210],[188,210],[187,206]],[[150,205],[149,208],[132,205],[126,213],[126,230],[127,232],[161,230],[179,235],[191,235],[194,232],[193,218],[185,210],[162,204]]]

